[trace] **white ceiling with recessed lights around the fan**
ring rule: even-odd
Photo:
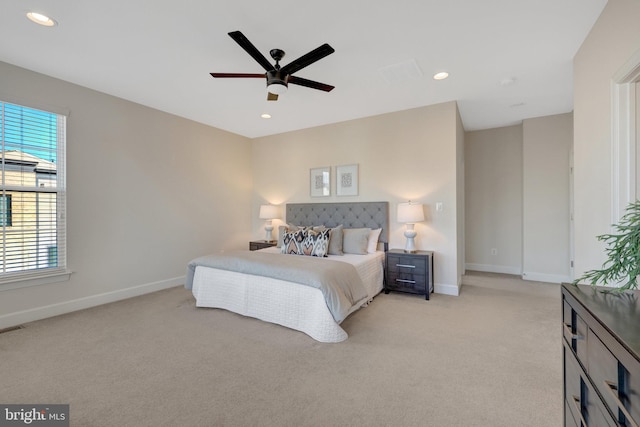
[[[2,0],[0,60],[250,138],[447,101],[470,131],[572,111],[572,59],[605,4]],[[329,43],[295,75],[336,88],[290,85],[268,102],[262,79],[212,78],[264,72],[235,30],[268,59],[283,49],[281,65]]]

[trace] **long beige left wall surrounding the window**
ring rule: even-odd
[[[251,237],[251,142],[0,62],[0,98],[69,110],[69,281],[0,291],[0,327],[184,283]]]

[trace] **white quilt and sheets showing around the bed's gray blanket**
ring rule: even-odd
[[[280,250],[272,247],[262,251],[278,253]],[[378,251],[367,255],[327,257],[352,264],[367,290],[369,298],[363,304],[352,307],[350,313],[368,305],[382,290],[384,256],[384,252]],[[286,326],[320,342],[340,342],[348,336],[331,315],[322,291],[309,286],[198,266],[192,292],[198,307],[222,308]]]

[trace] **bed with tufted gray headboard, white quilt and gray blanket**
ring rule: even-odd
[[[345,239],[356,233],[361,234],[363,229],[380,229],[377,242],[373,245],[376,250],[371,251],[372,247],[368,244],[369,251],[365,254],[349,253],[353,251],[345,247],[348,252],[343,255],[315,257],[281,254],[281,247],[272,247],[254,252],[200,257],[189,263],[185,286],[192,290],[197,307],[221,308],[279,324],[304,332],[320,342],[344,341],[348,335],[340,326],[342,321],[369,305],[383,288],[388,212],[388,202],[288,204],[286,224],[297,227],[322,230],[342,228]],[[279,236],[279,241],[282,240]],[[280,271],[278,264],[275,268],[277,274],[274,274],[270,269],[276,258],[284,260],[286,268],[293,269],[293,272]],[[230,267],[229,263],[233,266]],[[258,269],[245,268],[247,263],[257,264]],[[298,283],[311,281],[307,276],[315,277],[303,270],[308,267],[317,270],[314,274],[328,275],[332,280],[345,282],[339,283],[338,287],[358,282],[362,288],[358,285],[357,290],[347,289],[345,292],[349,301],[346,301],[342,293],[339,298],[335,297],[335,289],[327,290],[324,284],[314,287],[308,283]],[[333,270],[334,267],[343,270],[338,274]],[[351,271],[357,277],[350,276],[353,274]],[[328,298],[328,295],[333,298]],[[340,301],[336,308],[338,299]]]

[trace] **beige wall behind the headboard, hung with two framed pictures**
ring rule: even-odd
[[[458,182],[462,136],[455,102],[316,127],[253,141],[253,236],[264,236],[262,203],[389,201],[390,247],[404,247],[404,226],[396,206],[407,200],[426,205],[427,220],[416,225],[419,249],[435,251],[437,292],[457,294]],[[359,165],[359,194],[335,195],[335,167]],[[331,166],[331,196],[311,198],[309,169]],[[435,211],[442,202],[444,210]],[[281,222],[274,222],[277,226]]]

